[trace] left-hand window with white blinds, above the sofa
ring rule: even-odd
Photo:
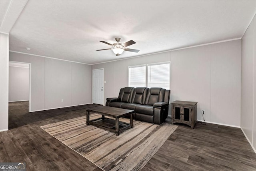
[[[129,86],[146,87],[146,65],[129,67]]]

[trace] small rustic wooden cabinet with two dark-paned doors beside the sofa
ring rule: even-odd
[[[172,123],[184,123],[192,128],[196,124],[196,104],[194,101],[172,102]]]

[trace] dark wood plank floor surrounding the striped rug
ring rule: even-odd
[[[40,128],[83,115],[85,109],[28,113],[28,101],[9,103],[9,131],[0,132],[0,162],[24,161],[27,171],[100,171]],[[250,171],[256,170],[256,154],[239,128],[180,125],[142,170]]]

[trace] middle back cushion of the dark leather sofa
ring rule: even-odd
[[[147,87],[136,87],[132,95],[132,103],[144,105],[147,93]]]

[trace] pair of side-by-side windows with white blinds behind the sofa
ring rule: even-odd
[[[163,87],[170,89],[170,62],[129,67],[130,87]]]

